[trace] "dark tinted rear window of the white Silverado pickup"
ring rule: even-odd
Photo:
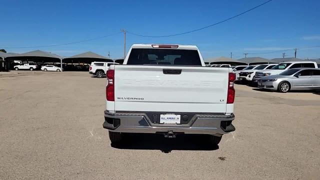
[[[132,48],[126,64],[202,65],[197,50]]]

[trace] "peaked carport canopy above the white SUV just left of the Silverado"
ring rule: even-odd
[[[90,64],[93,61],[102,61],[102,62],[113,62],[112,59],[107,58],[103,55],[88,51],[80,54],[73,55],[71,57],[66,57],[63,59],[64,63],[73,63],[73,60],[78,60],[87,64]]]

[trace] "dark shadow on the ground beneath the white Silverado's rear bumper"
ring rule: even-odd
[[[118,149],[161,150],[216,150],[218,145],[210,145],[206,135],[178,134],[175,138],[165,138],[162,134],[134,133],[127,134],[120,144],[111,146]]]

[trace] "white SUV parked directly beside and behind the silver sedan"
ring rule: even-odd
[[[287,69],[291,68],[300,68],[300,67],[309,67],[309,68],[318,68],[318,65],[316,62],[313,61],[287,61],[287,62],[281,62],[271,69],[265,69],[265,70],[258,70],[255,72],[255,75],[253,76],[253,81],[257,82],[262,76],[266,75],[276,75],[281,72],[284,72]]]

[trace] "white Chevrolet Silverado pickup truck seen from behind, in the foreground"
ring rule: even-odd
[[[103,127],[111,143],[123,133],[208,134],[218,144],[235,130],[235,74],[205,67],[195,45],[133,44],[107,73]]]

